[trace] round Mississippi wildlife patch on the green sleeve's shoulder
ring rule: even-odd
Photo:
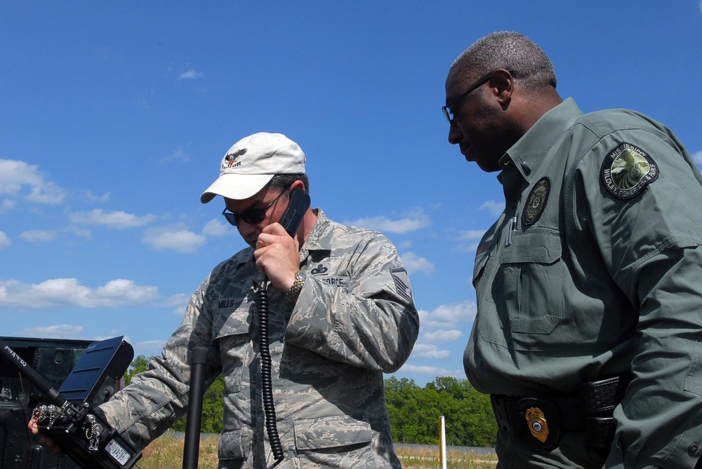
[[[604,157],[601,177],[612,196],[627,200],[658,179],[658,165],[639,147],[622,143]]]

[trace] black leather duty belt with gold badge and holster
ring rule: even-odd
[[[500,430],[524,435],[543,449],[557,446],[564,432],[587,432],[588,446],[609,449],[616,425],[614,408],[630,378],[616,376],[583,383],[574,395],[553,397],[491,395]]]

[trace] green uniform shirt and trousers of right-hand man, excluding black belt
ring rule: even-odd
[[[624,109],[550,110],[500,161],[505,211],[476,254],[465,349],[475,388],[576,393],[633,373],[607,468],[702,454],[702,176],[673,132]],[[584,432],[538,450],[500,432],[501,467],[598,467]]]

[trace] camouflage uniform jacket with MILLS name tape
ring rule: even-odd
[[[319,218],[300,247],[307,280],[296,301],[268,287],[272,388],[284,449],[279,468],[400,467],[383,373],[409,357],[419,318],[397,250],[381,233]],[[273,462],[265,432],[257,285],[246,248],[216,266],[150,369],[100,409],[136,447],[186,413],[190,351],[209,348],[206,385],[223,373],[219,468]]]

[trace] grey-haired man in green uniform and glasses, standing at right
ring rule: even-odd
[[[693,468],[702,455],[702,176],[635,111],[583,114],[514,32],[446,78],[449,142],[500,171],[464,366],[499,468]]]

